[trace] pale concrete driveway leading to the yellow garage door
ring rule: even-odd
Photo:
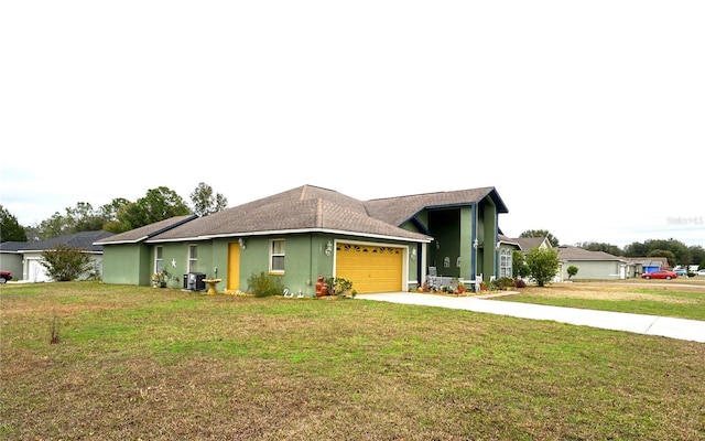
[[[449,297],[417,292],[358,294],[356,299],[451,308],[489,314],[511,315],[520,319],[551,320],[574,325],[705,343],[705,321],[699,320],[501,302],[476,297]]]

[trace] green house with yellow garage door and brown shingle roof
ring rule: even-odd
[[[315,292],[319,276],[352,281],[359,293],[416,289],[429,267],[474,283],[498,276],[495,187],[358,201],[303,185],[205,217],[182,216],[96,241],[104,282],[149,286],[166,269],[217,278],[218,291],[246,291],[251,276],[281,277]]]

